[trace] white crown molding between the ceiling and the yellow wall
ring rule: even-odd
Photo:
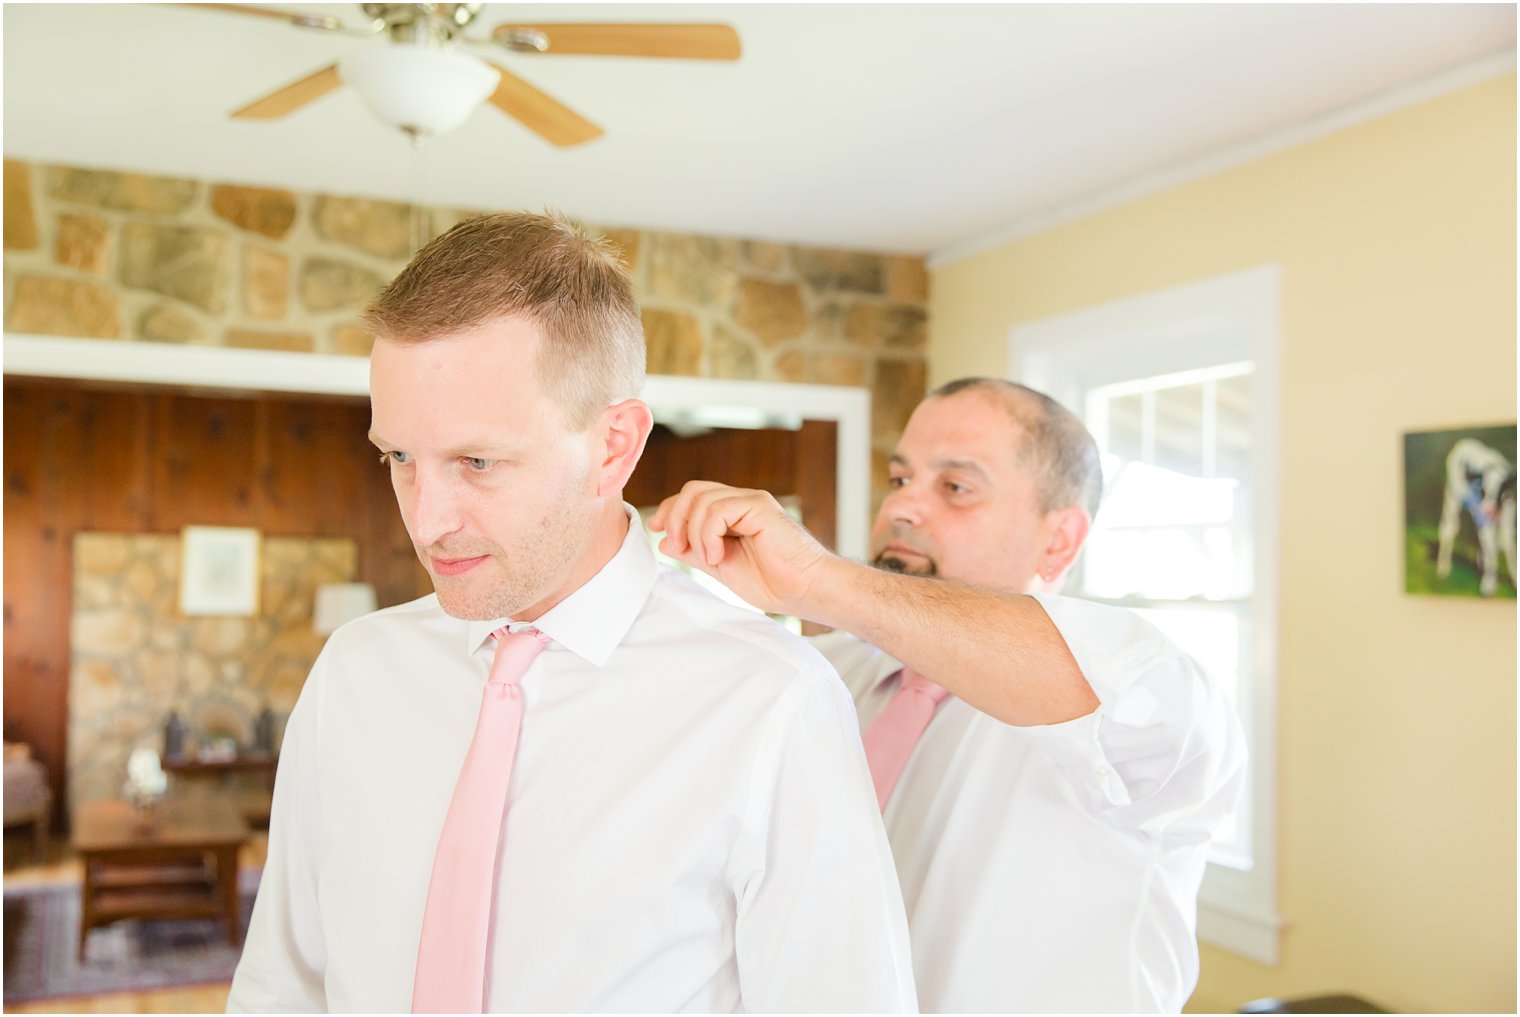
[[[1158,195],[1164,190],[1170,190],[1172,187],[1180,187],[1195,179],[1213,176],[1214,173],[1236,166],[1254,163],[1256,160],[1266,158],[1268,155],[1275,155],[1277,152],[1297,147],[1307,141],[1315,141],[1330,134],[1336,134],[1338,131],[1345,131],[1347,128],[1353,128],[1359,123],[1397,112],[1404,106],[1412,106],[1415,103],[1426,102],[1427,99],[1436,99],[1447,93],[1488,81],[1490,78],[1506,74],[1514,68],[1514,47],[1499,53],[1491,53],[1476,61],[1459,64],[1427,78],[1397,85],[1370,99],[1339,106],[1338,109],[1332,109],[1330,112],[1318,117],[1310,117],[1309,120],[1301,120],[1300,123],[1281,131],[1274,131],[1249,141],[1219,149],[1196,160],[1176,163],[1149,173],[1132,176],[1120,184],[1104,187],[1102,190],[1096,190],[1090,195],[1084,195],[1050,208],[1032,211],[1028,216],[1015,219],[1014,222],[999,227],[990,233],[932,251],[927,258],[929,268],[944,268],[974,254],[1000,248],[1005,243],[1023,240],[1024,237],[1031,237],[1037,233],[1044,233],[1047,230],[1053,230],[1055,227],[1076,222],[1078,219],[1087,219],[1088,216],[1096,216],[1100,211],[1128,205],[1129,202],[1149,198],[1151,195]]]

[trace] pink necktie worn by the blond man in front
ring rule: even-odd
[[[412,984],[413,1014],[479,1014],[485,1006],[496,859],[523,725],[523,693],[517,683],[549,643],[547,635],[530,629],[503,628],[492,635],[491,678],[433,854]]]

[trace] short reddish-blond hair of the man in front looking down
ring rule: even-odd
[[[544,331],[538,369],[572,427],[644,385],[644,328],[616,248],[558,213],[467,219],[427,243],[362,322],[377,339],[427,342],[506,315]]]

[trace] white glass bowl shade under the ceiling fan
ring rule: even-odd
[[[464,123],[500,76],[482,59],[423,46],[372,46],[337,65],[365,105],[410,134],[442,134]]]

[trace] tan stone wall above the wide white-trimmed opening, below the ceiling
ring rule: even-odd
[[[5,327],[363,356],[359,310],[465,214],[8,160]],[[882,493],[924,392],[921,257],[599,228],[634,272],[652,374],[871,389]]]

